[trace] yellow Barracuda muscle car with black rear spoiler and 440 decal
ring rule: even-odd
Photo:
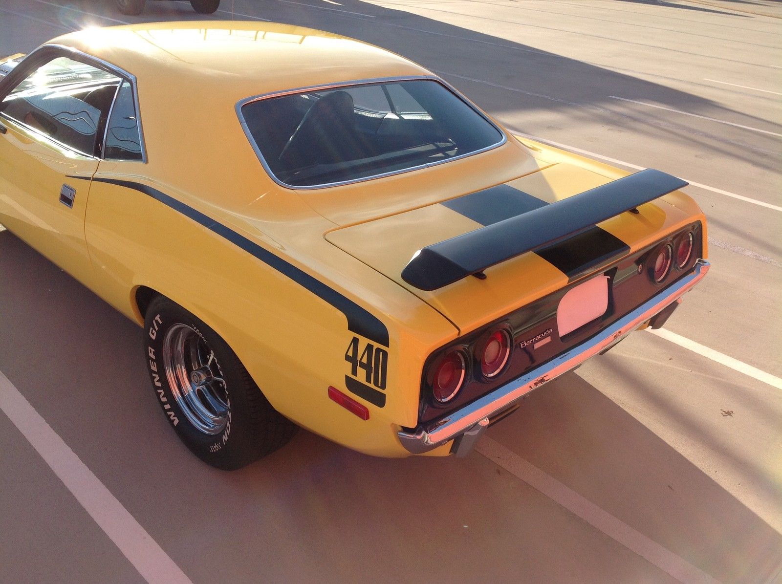
[[[0,76],[0,223],[143,327],[152,395],[218,468],[296,425],[468,453],[708,270],[684,181],[516,138],[335,34],[83,30]]]

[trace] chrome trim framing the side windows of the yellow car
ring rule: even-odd
[[[47,59],[43,61],[42,63],[36,63],[37,57],[40,53],[46,53],[52,51],[54,52],[55,56],[52,57],[52,59]],[[128,73],[126,70],[114,65],[113,63],[109,63],[108,61],[104,59],[100,59],[99,57],[95,57],[90,55],[89,53],[80,51],[77,48],[69,47],[66,45],[54,45],[54,44],[47,44],[47,45],[41,45],[38,48],[35,48],[32,52],[24,56],[24,61],[20,62],[20,66],[14,67],[14,69],[9,73],[9,76],[13,73],[16,73],[17,70],[22,70],[22,73],[25,73],[25,71],[31,71],[42,64],[48,63],[49,61],[52,61],[53,59],[57,58],[58,52],[60,53],[59,56],[64,56],[69,59],[73,59],[74,61],[78,61],[79,63],[84,63],[85,65],[95,66],[97,69],[102,69],[108,73],[113,73],[120,77],[121,79],[124,79],[125,81],[128,81],[131,84],[131,88],[133,88],[133,100],[134,100],[134,106],[136,109],[136,124],[138,125],[138,138],[141,141],[141,147],[142,147],[142,159],[124,159],[124,158],[109,158],[108,160],[127,160],[127,162],[142,162],[147,163],[147,154],[146,154],[146,142],[144,139],[144,130],[142,128],[142,116],[141,116],[141,109],[139,108],[139,102],[138,102],[138,81],[136,80],[136,76],[133,73]],[[74,58],[75,57],[75,58]],[[24,69],[24,65],[27,63],[32,63],[29,68]],[[7,78],[8,76],[4,77]],[[120,84],[121,85],[121,84]],[[13,86],[16,87],[16,84]],[[117,94],[119,93],[119,87],[117,87],[117,91],[114,92],[114,99],[111,102],[111,107],[109,108],[109,115],[106,117],[106,129],[103,132],[103,144],[106,144],[106,134],[109,131],[109,117],[111,116],[111,112],[114,109],[114,102],[117,101]],[[9,91],[10,93],[10,91]],[[8,95],[8,94],[5,94]],[[0,94],[0,100],[5,99],[5,95]],[[0,115],[2,115],[2,111],[0,111]],[[26,129],[29,129],[30,131],[33,131],[35,134],[40,135],[43,138],[46,138],[47,140],[50,140],[51,142],[54,142],[56,145],[59,145],[62,148],[65,148],[67,150],[70,150],[71,152],[75,152],[81,156],[88,156],[89,158],[99,159],[99,160],[105,160],[106,158],[103,155],[103,152],[101,152],[101,156],[95,156],[94,153],[92,154],[85,154],[84,152],[81,152],[80,150],[75,149],[73,146],[63,144],[62,142],[58,142],[51,136],[47,136],[46,134],[41,133],[40,131],[35,130],[34,128],[28,127],[26,124],[20,123],[18,120],[14,120],[13,118],[10,118],[9,116],[3,116],[5,120],[11,120],[15,124],[19,124],[21,127],[24,127]]]

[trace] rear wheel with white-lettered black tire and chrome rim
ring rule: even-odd
[[[181,339],[188,339],[189,344],[183,340],[187,348],[178,352]],[[228,344],[178,304],[163,296],[152,300],[146,311],[144,342],[149,377],[163,414],[185,446],[206,464],[224,470],[242,468],[274,452],[295,434],[296,425],[271,407]],[[204,356],[194,357],[196,353]],[[169,378],[166,365],[178,371],[177,355],[201,365],[209,355],[209,373],[198,373],[204,367],[188,371],[184,378],[191,385],[183,385],[182,378],[175,374]],[[198,385],[197,390],[183,391],[196,387],[192,385],[193,374],[213,381]],[[205,389],[210,399],[203,397]],[[220,407],[213,407],[218,402]],[[223,425],[213,423],[211,418],[205,423],[199,417],[201,407],[206,408],[207,415],[222,411],[222,417],[216,414],[214,419],[222,419]],[[206,430],[199,424],[205,424]]]

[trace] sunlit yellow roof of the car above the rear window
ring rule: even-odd
[[[313,85],[431,74],[393,52],[290,24],[208,20],[88,28],[56,38],[138,78],[238,101]]]

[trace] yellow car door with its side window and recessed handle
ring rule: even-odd
[[[82,281],[91,177],[122,81],[54,49],[28,56],[0,86],[0,223]]]

